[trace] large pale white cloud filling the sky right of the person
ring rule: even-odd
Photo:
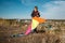
[[[42,8],[46,8],[46,11],[40,11],[42,14],[41,17],[48,19],[65,19],[65,1],[51,1],[43,4]]]

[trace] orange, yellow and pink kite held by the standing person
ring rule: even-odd
[[[46,19],[43,19],[43,18],[32,17],[31,24],[28,26],[25,34],[26,34],[26,35],[29,34],[34,29],[36,29],[36,27],[37,27],[39,24],[44,23],[44,22],[46,22]]]

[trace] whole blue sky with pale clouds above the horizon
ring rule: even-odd
[[[0,18],[30,19],[35,5],[42,18],[65,19],[64,0],[0,0]]]

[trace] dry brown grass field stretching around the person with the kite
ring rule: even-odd
[[[37,27],[38,33],[25,37],[10,38],[11,34],[25,32],[29,19],[0,19],[0,43],[65,43],[65,20],[48,19]],[[49,26],[52,29],[49,30]],[[43,32],[44,31],[44,32]]]

